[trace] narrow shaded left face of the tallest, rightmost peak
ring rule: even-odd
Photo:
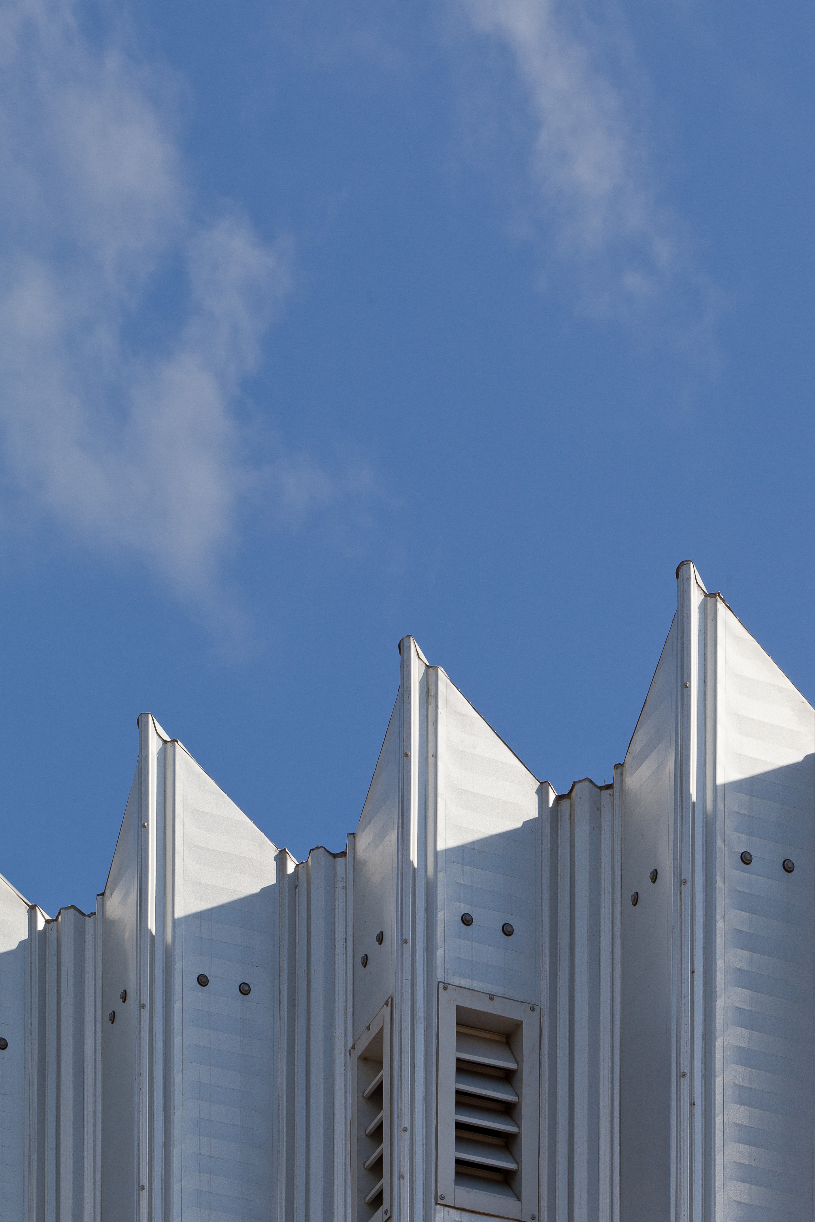
[[[622,767],[621,1217],[670,1217],[677,620]],[[650,871],[657,870],[651,884]],[[630,897],[637,892],[634,907]]]

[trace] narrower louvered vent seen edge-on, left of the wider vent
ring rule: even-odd
[[[390,1217],[390,1000],[351,1050],[354,1117],[351,1143],[354,1222]]]

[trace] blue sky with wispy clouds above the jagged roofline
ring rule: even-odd
[[[0,873],[150,710],[304,857],[413,633],[622,759],[693,558],[815,698],[811,5],[0,0]]]

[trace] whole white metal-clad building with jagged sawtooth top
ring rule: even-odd
[[[0,880],[0,1217],[813,1222],[815,712],[677,578],[609,786],[406,637],[298,864],[143,714],[97,912]]]

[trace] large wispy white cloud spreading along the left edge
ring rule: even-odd
[[[252,452],[237,406],[291,244],[237,211],[193,219],[163,98],[72,0],[0,0],[4,475],[28,517],[211,602],[246,503],[302,521],[342,490],[308,456]],[[156,338],[159,277],[182,304]]]

